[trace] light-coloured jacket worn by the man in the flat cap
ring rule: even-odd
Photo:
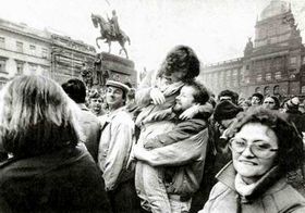
[[[98,151],[98,165],[102,172],[106,190],[113,190],[122,181],[133,178],[127,167],[134,140],[134,122],[131,115],[120,108],[99,117],[101,136]]]

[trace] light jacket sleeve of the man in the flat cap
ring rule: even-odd
[[[134,124],[126,121],[129,117],[117,117],[121,122],[111,125],[111,141],[103,171],[106,190],[112,190],[118,183],[120,174],[126,170],[131,149],[134,141]]]

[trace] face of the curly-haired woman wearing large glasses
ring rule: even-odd
[[[249,184],[259,179],[273,166],[278,138],[269,127],[259,123],[249,123],[241,128],[230,141],[230,146],[236,172]],[[240,148],[243,146],[245,149],[241,151]]]

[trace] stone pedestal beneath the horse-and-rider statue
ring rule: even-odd
[[[103,87],[108,79],[136,86],[137,74],[133,61],[107,52],[98,53],[97,59],[95,72],[98,77],[94,87]]]

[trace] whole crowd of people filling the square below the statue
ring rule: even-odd
[[[217,97],[174,47],[138,88],[19,76],[0,91],[0,212],[305,212],[297,97]]]

